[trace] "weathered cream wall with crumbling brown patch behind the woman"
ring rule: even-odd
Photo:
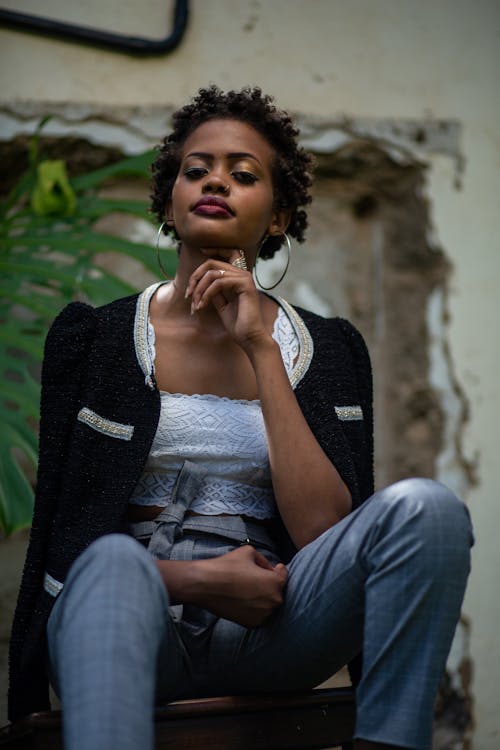
[[[76,11],[61,0],[44,0],[32,2],[31,8],[61,18],[83,12],[86,23],[116,28],[119,22],[145,35],[162,28],[163,35],[163,0],[108,0],[104,19],[103,5],[81,3]],[[9,2],[4,0],[3,6]],[[10,6],[30,7],[28,0]],[[60,117],[49,125],[49,132],[74,130],[132,151],[164,127],[167,111],[162,112],[162,105],[181,103],[199,85],[258,83],[300,115],[306,140],[319,152],[334,155],[330,165],[325,163],[318,185],[317,225],[310,246],[311,252],[321,246],[323,252],[335,254],[329,274],[335,279],[340,268],[345,283],[333,286],[338,290],[335,296],[312,281],[290,291],[311,299],[314,290],[317,304],[353,315],[371,338],[382,372],[387,369],[384,357],[394,362],[398,352],[405,355],[392,383],[377,386],[379,423],[402,420],[391,422],[385,432],[379,428],[382,450],[387,448],[394,460],[392,467],[380,462],[380,481],[401,461],[405,470],[434,468],[436,476],[462,492],[472,512],[477,544],[459,638],[467,644],[470,636],[470,647],[460,641],[454,658],[456,654],[460,662],[470,648],[475,750],[493,750],[500,736],[500,409],[495,345],[500,279],[495,221],[499,7],[496,0],[194,0],[179,50],[150,60],[0,32],[4,138],[31,129],[42,110],[57,110]],[[113,107],[124,105],[132,109],[126,124],[120,124]],[[153,109],[139,112],[134,109],[139,106]],[[105,110],[100,120],[94,117],[98,110]],[[411,121],[413,135],[405,130],[405,119]],[[447,123],[446,132],[437,126],[438,120]],[[346,139],[348,134],[352,137]],[[359,136],[368,137],[369,148],[360,163],[360,185],[356,175],[345,172],[352,159],[339,151],[355,148],[358,158]],[[463,170],[457,139],[465,159]],[[401,159],[401,148],[406,160]],[[389,157],[394,157],[394,165]],[[385,169],[388,195],[381,184]],[[346,193],[360,199],[375,197],[375,203],[361,200],[358,211],[363,215],[353,220]],[[332,216],[335,240],[328,244]],[[299,263],[305,275],[307,264]],[[363,282],[368,268],[375,271],[371,286]],[[372,315],[373,295],[379,295],[375,308],[385,310],[382,317]],[[396,300],[394,309],[405,310],[408,302],[408,312],[414,313],[404,318],[406,349],[401,336],[394,334],[398,321],[391,310]],[[381,346],[384,330],[390,335]],[[414,367],[405,364],[411,356]],[[405,425],[412,425],[409,434]],[[402,429],[406,441],[397,461],[397,446],[391,448],[396,428]],[[418,446],[426,462],[412,466],[408,445]],[[475,484],[471,461],[477,464]],[[460,674],[467,680],[467,669],[461,666]]]

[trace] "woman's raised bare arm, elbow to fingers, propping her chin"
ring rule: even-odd
[[[187,293],[195,310],[213,304],[250,359],[266,425],[276,502],[288,533],[301,548],[350,511],[349,490],[300,410],[279,346],[265,328],[251,275],[209,261],[192,274]]]

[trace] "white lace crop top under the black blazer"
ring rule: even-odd
[[[282,307],[275,320],[273,338],[280,346],[293,383],[299,338]],[[148,349],[154,363],[151,323]],[[191,502],[192,511],[271,518],[275,506],[260,401],[164,391],[160,396],[156,435],[130,502],[166,506],[182,464],[189,460],[206,470],[200,490]]]

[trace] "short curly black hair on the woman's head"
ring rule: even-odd
[[[271,96],[258,87],[223,92],[212,85],[198,91],[192,101],[172,117],[173,130],[158,147],[152,164],[151,212],[165,220],[165,206],[172,194],[180,167],[181,149],[188,136],[208,120],[241,120],[252,125],[275,151],[273,186],[278,210],[290,211],[287,232],[298,242],[304,241],[307,214],[304,206],[311,202],[313,157],[298,145],[298,129],[287,112],[274,105]],[[262,258],[272,258],[283,237],[269,237],[261,248]]]

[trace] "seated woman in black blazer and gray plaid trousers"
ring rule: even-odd
[[[430,745],[470,525],[430,480],[373,494],[361,336],[256,289],[310,171],[259,89],[201,90],[153,168],[175,279],[48,335],[10,711],[48,671],[67,748],[151,747],[155,699],[312,687],[361,649],[358,750]]]

